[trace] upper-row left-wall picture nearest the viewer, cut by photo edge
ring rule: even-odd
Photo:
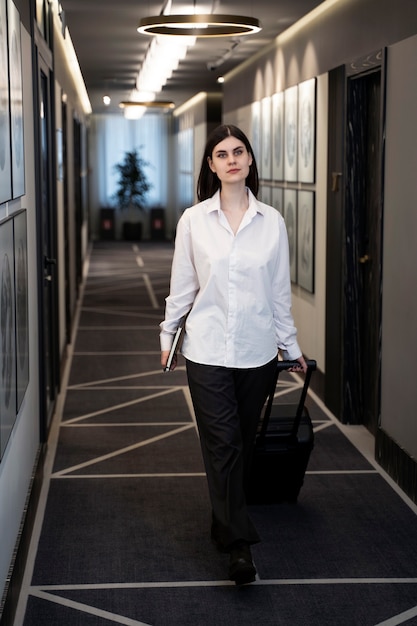
[[[6,0],[0,0],[0,204],[12,197]]]

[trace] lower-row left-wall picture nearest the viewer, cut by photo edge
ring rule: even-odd
[[[13,219],[0,222],[0,458],[16,419]]]

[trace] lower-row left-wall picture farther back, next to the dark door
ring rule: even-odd
[[[26,209],[14,214],[13,240],[16,298],[16,411],[18,413],[29,383],[29,304]]]

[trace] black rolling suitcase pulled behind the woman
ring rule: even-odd
[[[304,406],[316,361],[308,360],[308,370],[297,404],[273,404],[280,372],[294,361],[278,361],[271,392],[258,430],[252,470],[246,488],[248,504],[296,502],[314,446],[314,433]]]

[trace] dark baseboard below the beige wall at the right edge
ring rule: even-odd
[[[375,459],[407,496],[417,503],[417,462],[382,428],[375,436]]]

